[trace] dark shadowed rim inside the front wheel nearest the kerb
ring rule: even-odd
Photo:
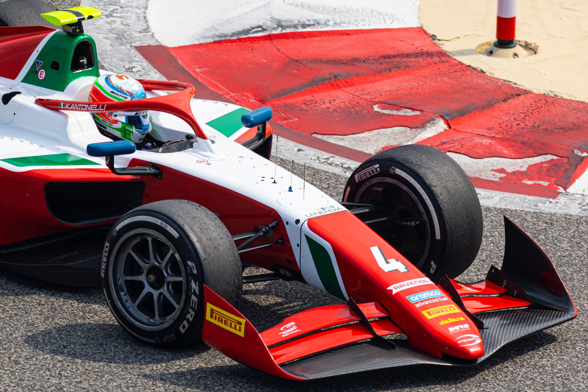
[[[406,185],[392,178],[372,178],[359,188],[353,202],[372,204],[377,211],[362,220],[386,242],[420,268],[431,246],[425,208]]]

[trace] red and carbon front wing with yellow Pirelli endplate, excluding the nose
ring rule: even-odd
[[[577,314],[549,257],[506,217],[505,230],[501,270],[491,267],[486,280],[477,283],[449,278],[439,283],[479,327],[485,354],[476,360],[439,358],[410,346],[393,323],[394,315],[379,303],[356,305],[350,300],[348,305],[310,309],[259,333],[206,286],[203,340],[240,363],[289,380],[415,365],[474,366],[505,344]]]

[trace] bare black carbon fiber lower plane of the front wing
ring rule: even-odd
[[[395,350],[383,350],[370,343],[359,343],[302,358],[282,366],[290,373],[309,379],[340,376],[384,368],[413,365],[474,366],[492,356],[500,347],[530,333],[571,320],[573,315],[546,308],[526,308],[477,314],[486,329],[481,331],[485,355],[476,361],[450,357],[437,358],[410,346],[406,340],[394,340]]]

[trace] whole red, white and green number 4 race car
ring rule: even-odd
[[[197,99],[179,81],[132,84],[98,69],[82,25],[98,10],[42,16],[62,29],[0,28],[2,267],[102,287],[118,323],[147,343],[203,341],[297,381],[473,366],[576,317],[549,257],[506,217],[502,267],[454,279],[479,251],[482,212],[443,152],[380,152],[336,201],[269,160],[270,108]],[[132,97],[94,94],[102,81]],[[132,132],[106,132],[105,119]],[[271,273],[244,277],[249,265]],[[342,304],[258,331],[239,298],[269,280]]]

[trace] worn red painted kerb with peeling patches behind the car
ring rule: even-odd
[[[586,170],[588,104],[469,68],[422,28],[287,32],[136,49],[164,77],[193,84],[196,97],[269,105],[276,134],[329,154],[370,157],[313,134],[420,128],[442,118],[449,129],[421,144],[472,158],[556,157],[524,171],[496,170],[504,175],[498,181],[472,178],[476,187],[554,198]],[[389,115],[374,105],[420,114]]]

